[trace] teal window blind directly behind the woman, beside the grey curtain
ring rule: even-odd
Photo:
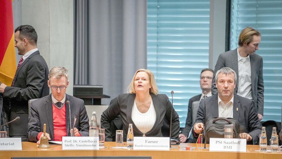
[[[188,100],[209,66],[209,0],[147,0],[147,68],[185,126]]]

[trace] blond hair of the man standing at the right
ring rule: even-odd
[[[243,46],[244,43],[247,43],[247,45],[249,45],[249,43],[253,40],[253,35],[260,36],[261,34],[260,32],[258,32],[258,30],[255,30],[254,28],[244,28],[239,35],[238,45]]]

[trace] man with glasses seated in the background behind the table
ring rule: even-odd
[[[213,70],[210,68],[203,69],[201,72],[201,76],[200,76],[200,86],[202,89],[202,94],[196,95],[189,100],[186,124],[185,124],[185,127],[183,128],[182,133],[179,134],[179,141],[181,143],[184,143],[184,142],[192,143],[192,135],[191,135],[192,116],[193,116],[192,104],[194,101],[199,101],[200,99],[204,98],[204,91],[207,91],[207,94],[206,94],[207,97],[211,96],[212,79],[213,79]],[[188,137],[188,140],[187,140],[187,137]]]

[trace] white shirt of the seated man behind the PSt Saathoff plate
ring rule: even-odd
[[[226,105],[218,97],[218,117],[233,118],[234,95]]]

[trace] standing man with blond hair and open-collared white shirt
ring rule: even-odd
[[[239,35],[239,47],[219,55],[213,74],[212,94],[217,93],[215,73],[223,67],[231,68],[237,74],[234,94],[254,100],[258,118],[262,120],[264,106],[263,62],[262,57],[255,54],[260,44],[260,35],[260,32],[254,28],[246,27]]]

